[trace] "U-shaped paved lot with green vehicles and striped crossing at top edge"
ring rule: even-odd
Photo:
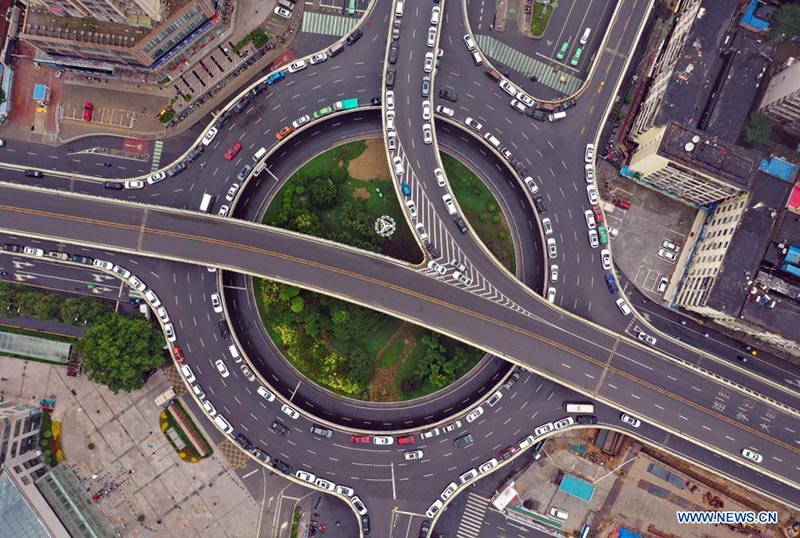
[[[531,95],[549,99],[582,85],[614,6],[610,0],[561,1],[541,37],[531,34],[532,0],[473,0],[467,10],[481,50],[495,67]]]

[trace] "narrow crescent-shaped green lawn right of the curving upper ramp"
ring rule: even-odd
[[[492,191],[478,179],[472,170],[455,158],[442,154],[442,165],[450,181],[458,205],[470,227],[503,266],[512,273],[516,270],[514,242],[508,223]],[[494,208],[494,212],[490,209]],[[498,221],[498,222],[495,222]]]

